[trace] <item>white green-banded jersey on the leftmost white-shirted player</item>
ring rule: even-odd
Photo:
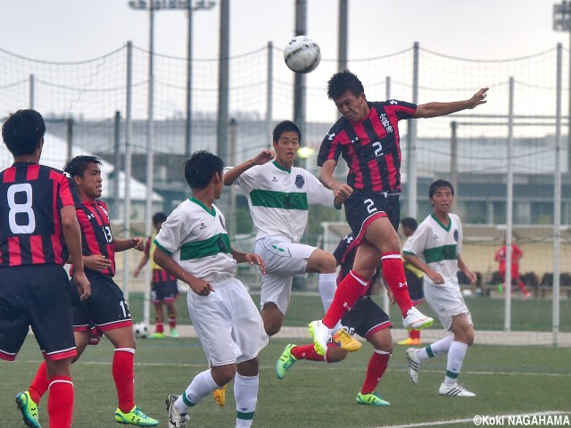
[[[226,219],[215,205],[208,210],[192,197],[182,202],[162,224],[154,243],[204,281],[221,281],[236,272]]]

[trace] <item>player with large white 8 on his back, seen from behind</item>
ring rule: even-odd
[[[71,287],[63,268],[76,264],[73,279],[81,300],[91,294],[81,261],[75,216],[77,194],[62,171],[38,165],[46,125],[33,110],[5,119],[4,144],[12,167],[0,172],[0,358],[16,358],[31,326],[44,354],[50,426],[68,428],[73,418],[71,359],[77,351],[71,323]],[[28,393],[16,396],[24,423],[39,427]]]

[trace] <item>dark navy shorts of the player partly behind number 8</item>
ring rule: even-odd
[[[76,332],[87,332],[95,326],[103,333],[133,325],[127,301],[119,285],[113,282],[112,276],[101,275],[87,269],[86,276],[91,283],[91,297],[81,302],[75,301],[73,329]]]

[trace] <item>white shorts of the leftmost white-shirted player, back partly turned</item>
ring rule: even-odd
[[[239,364],[255,358],[268,344],[261,315],[240,280],[211,283],[214,292],[187,292],[188,315],[211,366]]]

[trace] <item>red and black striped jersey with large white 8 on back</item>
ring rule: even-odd
[[[79,196],[58,169],[17,162],[0,172],[0,267],[63,265],[70,257],[60,210]]]

